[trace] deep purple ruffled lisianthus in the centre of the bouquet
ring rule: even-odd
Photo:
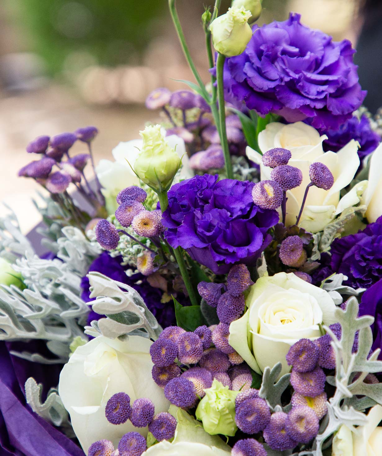
[[[267,231],[278,214],[255,205],[253,183],[218,177],[205,174],[175,184],[162,224],[174,249],[181,246],[215,274],[225,274],[231,264],[259,257],[271,242]]]

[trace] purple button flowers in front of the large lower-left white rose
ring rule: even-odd
[[[155,407],[150,399],[139,398],[133,404],[128,394],[116,393],[107,401],[106,419],[113,425],[120,425],[130,420],[136,428],[145,428],[159,442],[170,440],[175,435],[177,421],[167,412],[154,415]],[[127,432],[122,436],[118,449],[114,450],[109,440],[98,440],[90,448],[89,456],[141,456],[147,450],[146,439],[139,432]]]

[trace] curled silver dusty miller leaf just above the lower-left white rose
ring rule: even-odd
[[[153,340],[159,337],[162,327],[136,290],[99,272],[89,272],[88,277],[90,297],[96,297],[88,304],[94,312],[106,315],[106,318],[85,326],[85,334],[93,337],[103,334],[112,339],[123,339],[127,335],[140,335]]]

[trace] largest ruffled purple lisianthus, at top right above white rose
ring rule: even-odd
[[[226,99],[261,115],[273,112],[288,122],[309,118],[314,128],[336,129],[366,95],[355,51],[348,40],[335,42],[303,26],[300,17],[291,13],[287,21],[252,27],[246,50],[225,62]]]

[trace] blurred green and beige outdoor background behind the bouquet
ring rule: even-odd
[[[375,41],[379,31],[376,11],[382,1],[366,2],[263,0],[258,23],[282,21],[295,11],[304,24],[335,40],[348,38],[355,47],[359,41],[367,49],[368,33]],[[177,1],[190,50],[206,81],[200,17],[204,5],[212,4],[212,0]],[[221,11],[229,5],[223,0]],[[366,39],[359,39],[365,24]],[[381,38],[375,43],[378,49],[380,43]],[[360,61],[364,57],[362,71],[370,73],[366,64],[378,59],[358,54]],[[156,113],[144,107],[152,89],[184,87],[174,79],[192,80],[192,75],[166,0],[0,1],[0,201],[14,209],[23,231],[39,219],[30,203],[37,184],[16,177],[31,160],[26,144],[37,135],[95,125],[100,131],[94,143],[96,159],[111,158],[119,141],[136,138],[145,121],[155,120]],[[362,87],[370,90],[365,83],[361,77]],[[0,215],[5,212],[1,205]]]

